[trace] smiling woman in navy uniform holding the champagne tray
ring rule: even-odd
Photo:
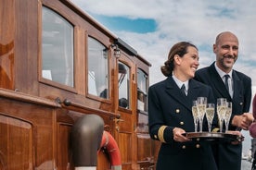
[[[193,79],[198,65],[198,48],[190,42],[178,42],[161,67],[167,79],[148,89],[149,134],[161,141],[157,170],[217,169],[210,145],[183,135],[195,129],[192,101],[207,97],[214,103],[211,88]]]

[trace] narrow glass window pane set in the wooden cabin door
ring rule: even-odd
[[[130,108],[129,89],[130,89],[130,68],[119,62],[119,106],[122,108]]]

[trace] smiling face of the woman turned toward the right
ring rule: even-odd
[[[198,50],[193,47],[187,47],[187,53],[183,57],[179,57],[178,60],[178,73],[179,79],[186,81],[187,79],[192,79],[195,76],[195,72],[198,69]]]

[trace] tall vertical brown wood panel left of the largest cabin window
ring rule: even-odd
[[[15,1],[15,89],[38,96],[38,5],[35,0]]]

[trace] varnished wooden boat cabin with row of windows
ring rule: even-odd
[[[2,0],[0,20],[1,170],[155,168],[147,60],[68,0]]]

